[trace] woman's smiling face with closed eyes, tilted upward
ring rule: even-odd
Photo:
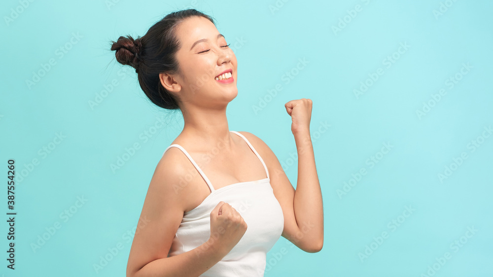
[[[227,105],[238,94],[238,74],[235,53],[226,39],[211,21],[201,16],[181,22],[176,36],[181,44],[176,53],[181,75],[175,76],[181,100],[208,107]],[[215,78],[225,70],[231,71],[232,78],[217,81]]]

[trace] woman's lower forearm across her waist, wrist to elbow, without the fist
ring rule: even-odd
[[[219,250],[211,240],[179,255],[154,260],[132,277],[195,277],[219,262],[226,252]]]

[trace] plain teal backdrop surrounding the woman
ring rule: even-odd
[[[265,276],[493,276],[487,0],[2,1],[1,276],[125,276],[183,120],[145,97],[110,41],[185,8],[236,54],[230,130],[264,140],[294,187],[284,104],[313,100],[324,245],[281,237]]]

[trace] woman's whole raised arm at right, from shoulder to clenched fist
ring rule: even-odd
[[[251,133],[242,133],[255,143],[269,170],[270,183],[284,215],[282,236],[300,249],[315,253],[323,246],[323,205],[310,137],[312,100],[292,100],[285,107],[293,121],[291,131],[298,153],[296,190],[267,144]]]

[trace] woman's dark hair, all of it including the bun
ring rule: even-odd
[[[202,16],[214,20],[196,9],[172,12],[154,24],[142,37],[120,36],[111,41],[111,50],[116,51],[116,60],[135,68],[139,84],[145,95],[161,108],[179,109],[179,97],[168,92],[159,80],[160,73],[180,74],[176,52],[181,45],[176,37],[176,26],[192,16]]]

